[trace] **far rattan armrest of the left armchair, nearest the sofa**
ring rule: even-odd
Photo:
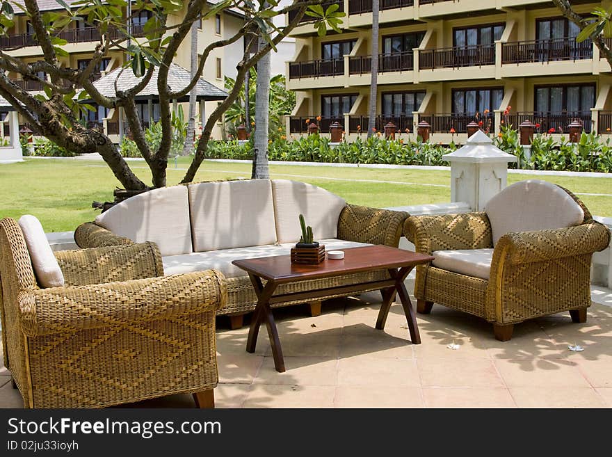
[[[62,250],[55,256],[68,286],[163,276],[159,248],[150,242]]]

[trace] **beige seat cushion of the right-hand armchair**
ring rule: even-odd
[[[435,257],[431,264],[436,268],[489,279],[493,259],[492,249],[435,250],[431,255]]]

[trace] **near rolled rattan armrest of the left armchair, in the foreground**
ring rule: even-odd
[[[117,323],[172,319],[216,311],[227,303],[227,284],[215,270],[79,287],[22,291],[19,325],[29,336],[51,335]],[[144,327],[143,331],[147,331]]]

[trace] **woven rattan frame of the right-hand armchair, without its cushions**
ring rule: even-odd
[[[408,218],[404,234],[418,252],[436,256],[462,250],[469,255],[474,250],[488,254],[490,262],[490,268],[487,262],[476,266],[484,265],[488,278],[435,266],[438,258],[433,264],[417,266],[417,311],[428,314],[439,303],[474,314],[494,324],[500,341],[512,337],[515,323],[538,316],[569,311],[572,321],[585,322],[591,303],[591,257],[608,246],[610,233],[593,221],[578,198],[563,191],[582,209],[579,225],[504,232],[496,243],[486,212]],[[519,200],[516,205],[529,205],[529,201]]]

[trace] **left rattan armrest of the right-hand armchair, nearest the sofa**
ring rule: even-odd
[[[403,231],[417,252],[428,255],[435,250],[493,247],[491,224],[484,212],[410,216]]]

